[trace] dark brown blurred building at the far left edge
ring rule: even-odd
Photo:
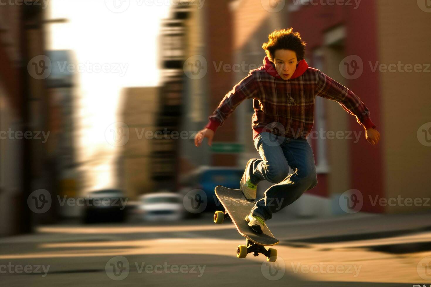
[[[30,64],[44,54],[43,19],[41,5],[0,9],[0,235],[31,231],[41,217],[31,212],[27,198],[49,182],[40,136],[47,132],[46,86]]]

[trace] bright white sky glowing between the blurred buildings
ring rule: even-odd
[[[116,184],[114,160],[117,148],[105,139],[105,130],[119,121],[118,110],[122,88],[157,86],[158,37],[160,20],[168,17],[169,1],[138,0],[50,0],[48,19],[68,19],[63,24],[47,25],[50,50],[72,50],[77,73],[76,94],[79,98],[78,121],[81,127],[79,160],[94,160],[87,165],[88,188]],[[115,5],[116,6],[115,6]],[[119,5],[123,12],[112,12]],[[124,6],[123,6],[124,7]],[[110,10],[111,9],[111,10]],[[105,65],[106,71],[94,72],[94,65]]]

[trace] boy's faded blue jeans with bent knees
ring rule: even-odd
[[[262,159],[253,161],[251,182],[267,180],[276,184],[265,191],[251,213],[268,220],[272,213],[292,204],[317,185],[314,154],[306,139],[291,139],[269,132],[256,136],[254,146]],[[290,175],[289,166],[293,171]]]

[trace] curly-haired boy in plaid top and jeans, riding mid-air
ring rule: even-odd
[[[380,140],[362,101],[322,71],[308,66],[304,59],[306,43],[299,32],[293,32],[292,28],[276,30],[268,38],[262,45],[267,55],[263,66],[251,70],[225,95],[195,138],[197,147],[204,138],[212,145],[217,128],[242,101],[253,99],[251,127],[261,159],[247,162],[240,189],[248,200],[255,200],[260,181],[275,183],[246,218],[257,233],[262,232],[264,221],[271,219],[272,213],[317,185],[314,154],[306,140],[314,122],[315,96],[334,100],[354,115],[365,128],[365,139],[370,144],[376,145]],[[289,166],[293,171],[290,175]]]

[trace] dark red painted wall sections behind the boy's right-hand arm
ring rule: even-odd
[[[372,73],[368,64],[369,61],[375,62],[378,60],[375,1],[361,1],[357,9],[353,9],[353,7],[354,5],[322,6],[320,4],[316,6],[301,6],[298,11],[290,13],[290,26],[294,28],[294,31],[300,31],[301,37],[307,42],[307,50],[309,52],[313,48],[323,46],[323,37],[326,30],[338,25],[345,26],[345,56],[358,55],[364,64],[364,72],[361,77],[356,80],[348,80],[347,87],[356,93],[367,108],[369,108],[370,116],[376,125],[376,129],[382,132],[384,129],[381,127],[379,117],[380,93],[378,74]],[[310,58],[308,57],[308,59]],[[309,63],[309,65],[312,66],[312,63]],[[362,192],[364,198],[362,211],[383,212],[383,207],[373,207],[369,200],[369,195],[384,196],[381,145],[370,145],[365,139],[365,130],[359,126],[355,117],[350,116],[349,119],[350,127],[353,131],[356,130],[359,132],[362,130],[359,142],[355,144],[349,141],[351,153],[351,188]],[[319,176],[322,178],[324,175]],[[326,183],[325,179],[322,181]],[[319,181],[319,185],[320,183]],[[319,195],[325,194],[325,191],[316,188],[308,192]]]

